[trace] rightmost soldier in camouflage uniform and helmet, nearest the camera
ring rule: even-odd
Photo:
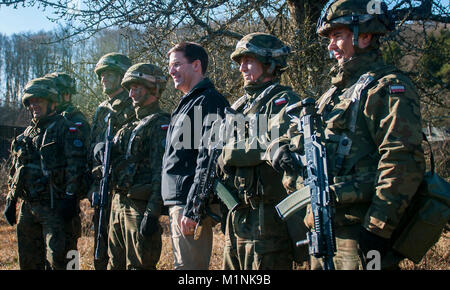
[[[419,96],[408,77],[384,63],[379,38],[392,22],[384,3],[380,13],[370,14],[369,2],[335,1],[317,26],[338,60],[331,88],[316,102],[325,124],[328,182],[336,202],[337,269],[364,268],[370,250],[380,253],[382,269],[398,266],[401,257],[390,250],[389,239],[425,168]],[[295,126],[288,135],[268,155],[275,168],[290,173],[284,184],[293,191],[301,178],[292,175],[289,151],[301,153],[303,145]],[[310,212],[305,223],[313,226]],[[312,258],[312,268],[321,267]]]

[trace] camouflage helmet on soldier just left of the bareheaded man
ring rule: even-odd
[[[156,65],[150,63],[137,63],[131,66],[122,79],[122,87],[130,89],[132,83],[139,83],[148,88],[157,88],[161,94],[167,83],[167,77]]]

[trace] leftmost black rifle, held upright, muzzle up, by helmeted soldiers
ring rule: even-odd
[[[99,208],[99,218],[98,218],[98,232],[95,240],[95,256],[96,260],[99,259],[98,251],[100,247],[100,241],[102,240],[102,232],[103,232],[103,220],[105,218],[105,207],[108,204],[108,194],[109,194],[109,177],[111,175],[111,146],[112,146],[112,117],[111,113],[106,116],[108,120],[108,126],[106,128],[106,143],[105,143],[105,152],[103,153],[103,164],[102,164],[102,179],[100,180],[100,200],[98,203]]]

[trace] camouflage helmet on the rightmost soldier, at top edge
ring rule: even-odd
[[[317,22],[317,33],[327,37],[335,28],[348,27],[359,33],[384,35],[394,29],[386,3],[381,0],[337,0],[331,2]]]

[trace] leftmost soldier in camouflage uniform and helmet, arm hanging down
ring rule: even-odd
[[[77,214],[86,166],[86,148],[78,127],[57,114],[59,93],[45,78],[30,81],[22,102],[32,113],[31,125],[13,142],[13,166],[5,217],[17,223],[21,269],[65,269],[64,225]]]

